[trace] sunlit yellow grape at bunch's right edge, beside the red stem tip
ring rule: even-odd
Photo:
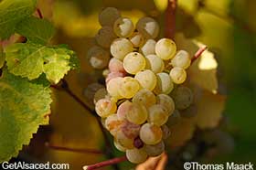
[[[188,52],[185,50],[177,51],[176,56],[171,61],[171,64],[173,67],[187,69],[191,64]]]

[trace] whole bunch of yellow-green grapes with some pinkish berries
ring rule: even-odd
[[[94,69],[104,69],[106,88],[94,95],[95,111],[115,147],[139,164],[165,151],[164,140],[171,135],[166,123],[177,120],[178,110],[187,116],[193,110],[193,92],[181,85],[191,58],[172,39],[156,39],[159,25],[154,18],[145,16],[133,25],[107,7],[99,22],[88,58]]]

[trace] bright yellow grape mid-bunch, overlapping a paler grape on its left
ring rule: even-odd
[[[140,89],[141,86],[138,80],[132,77],[124,77],[120,82],[118,91],[123,98],[130,99],[133,98]]]

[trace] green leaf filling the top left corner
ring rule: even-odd
[[[16,24],[35,11],[37,0],[4,0],[0,3],[0,39],[15,33]]]

